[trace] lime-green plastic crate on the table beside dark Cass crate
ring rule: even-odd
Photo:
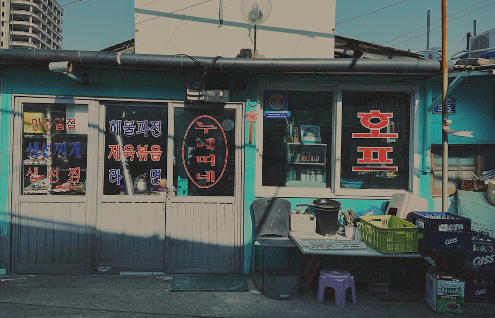
[[[418,251],[418,227],[394,215],[361,216],[362,240],[381,253]]]

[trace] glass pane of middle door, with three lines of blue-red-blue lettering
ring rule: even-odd
[[[105,107],[105,195],[166,191],[168,107]]]

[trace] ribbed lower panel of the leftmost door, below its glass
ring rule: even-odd
[[[86,204],[21,202],[12,215],[15,272],[86,272]]]

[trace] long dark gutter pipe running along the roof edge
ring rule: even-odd
[[[69,61],[74,66],[140,70],[313,74],[441,74],[441,62],[429,59],[232,58],[185,54],[135,54],[105,51],[0,49],[0,66],[43,65]],[[449,61],[449,71],[453,64]]]

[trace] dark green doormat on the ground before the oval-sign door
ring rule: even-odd
[[[241,274],[177,274],[170,291],[247,291]]]

